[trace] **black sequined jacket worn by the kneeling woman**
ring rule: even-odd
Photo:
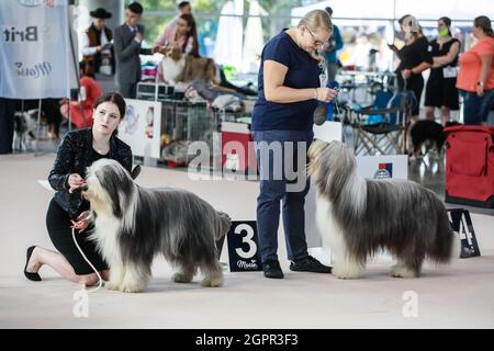
[[[132,170],[132,150],[128,145],[112,136],[110,139],[110,158],[119,161],[128,172]],[[79,215],[83,202],[80,192],[68,192],[67,180],[71,173],[86,178],[86,169],[92,162],[92,128],[69,132],[58,147],[55,165],[48,181],[55,193],[55,202],[71,218]]]

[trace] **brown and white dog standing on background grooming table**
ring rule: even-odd
[[[165,57],[161,68],[165,79],[170,82],[203,81],[218,83],[216,66],[209,57],[193,57],[181,52],[180,47],[168,45],[160,52]]]

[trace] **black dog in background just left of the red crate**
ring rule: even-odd
[[[446,126],[458,125],[460,123],[452,121],[446,123]],[[426,154],[435,148],[438,157],[442,155],[442,146],[446,141],[445,127],[430,120],[417,121],[411,128],[409,135],[412,139],[413,150],[411,154],[411,160],[420,157],[422,148],[426,147]]]

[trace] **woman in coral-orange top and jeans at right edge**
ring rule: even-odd
[[[494,37],[487,16],[473,21],[473,35],[479,42],[460,56],[457,79],[463,97],[464,124],[485,123],[494,102]]]

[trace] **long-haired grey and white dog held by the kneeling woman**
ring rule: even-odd
[[[228,231],[228,215],[186,190],[139,186],[111,159],[92,163],[86,182],[82,195],[94,224],[90,238],[110,267],[108,288],[143,291],[158,253],[179,267],[176,282],[191,282],[199,268],[203,286],[223,284],[215,240]]]

